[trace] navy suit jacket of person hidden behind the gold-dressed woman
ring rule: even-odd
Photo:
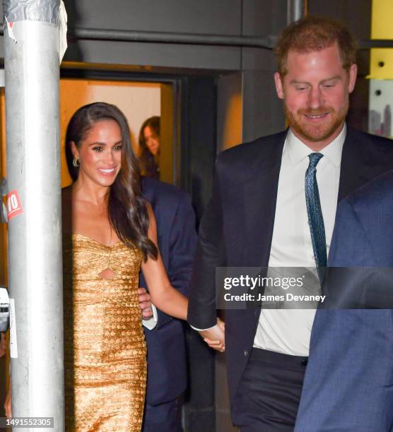
[[[142,179],[142,193],[156,216],[158,247],[170,283],[187,296],[197,243],[191,200],[175,186],[147,178]],[[140,286],[146,287],[142,274]],[[156,328],[145,329],[145,335],[148,348],[146,402],[162,404],[175,399],[187,385],[182,322],[158,311]]]

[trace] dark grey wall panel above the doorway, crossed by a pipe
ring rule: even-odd
[[[66,1],[70,27],[240,35],[241,0]],[[112,49],[113,46],[116,49]],[[80,41],[65,60],[177,68],[236,69],[240,49],[182,44]]]

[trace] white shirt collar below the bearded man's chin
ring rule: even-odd
[[[337,136],[332,141],[332,143],[327,145],[325,148],[319,150],[319,153],[322,153],[322,155],[324,155],[324,157],[326,157],[336,167],[339,167],[341,164],[341,153],[343,151],[345,137],[346,124],[344,123],[344,128],[339,133],[339,136]],[[303,143],[303,141],[295,136],[291,128],[288,130],[285,145],[289,154],[289,158],[294,165],[300,164],[300,162],[305,160],[308,155],[313,152],[309,147],[307,147],[307,145]]]

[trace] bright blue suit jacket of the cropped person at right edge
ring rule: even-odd
[[[329,266],[393,267],[393,172],[341,201]],[[295,431],[391,430],[393,311],[318,310]]]

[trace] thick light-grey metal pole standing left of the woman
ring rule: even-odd
[[[59,2],[3,2],[14,23],[4,31],[7,186],[22,209],[8,217],[12,410],[54,417],[56,431],[64,430]],[[8,212],[16,198],[10,204]]]

